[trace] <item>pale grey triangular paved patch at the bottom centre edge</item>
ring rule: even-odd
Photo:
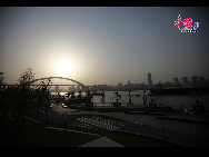
[[[123,146],[107,137],[101,137],[90,143],[83,144],[79,147],[123,147]]]

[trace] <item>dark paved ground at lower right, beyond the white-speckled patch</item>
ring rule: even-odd
[[[129,115],[125,112],[102,112],[103,115],[127,120],[133,125],[125,126],[125,130],[136,131],[142,135],[163,138],[167,141],[180,144],[183,146],[208,146],[209,125],[159,119],[152,115]],[[180,115],[179,115],[180,116]],[[138,124],[138,125],[137,125]],[[163,129],[165,126],[165,129]]]

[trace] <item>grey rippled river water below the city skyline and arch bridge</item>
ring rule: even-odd
[[[112,106],[112,102],[116,102],[118,99],[118,102],[121,102],[121,106],[148,106],[149,101],[151,99],[155,100],[155,102],[158,104],[158,106],[170,106],[172,108],[183,108],[187,109],[192,108],[192,104],[198,99],[200,100],[203,106],[206,107],[206,110],[209,110],[209,96],[200,96],[192,98],[191,96],[153,96],[153,97],[147,97],[147,104],[143,105],[143,90],[136,90],[131,91],[129,97],[129,91],[118,91],[118,95],[120,97],[117,97],[115,94],[116,91],[104,91],[104,98],[102,99],[101,96],[93,96],[92,101],[94,106]],[[54,94],[54,92],[52,92]],[[146,96],[148,96],[149,90],[146,90]],[[64,92],[61,92],[63,96]],[[77,96],[78,92],[74,92]],[[84,96],[86,94],[82,92]],[[140,96],[141,97],[140,97]],[[129,104],[129,100],[131,100],[131,105]]]

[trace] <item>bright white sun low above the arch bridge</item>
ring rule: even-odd
[[[60,60],[56,65],[56,71],[62,77],[68,77],[74,71],[73,65],[68,60]]]

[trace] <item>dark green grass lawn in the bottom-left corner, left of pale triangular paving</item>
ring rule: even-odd
[[[0,116],[0,146],[77,147],[98,136],[46,129],[44,124],[26,119],[24,125]]]

